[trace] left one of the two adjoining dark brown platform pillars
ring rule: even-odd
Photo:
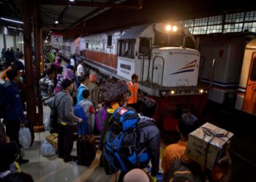
[[[33,124],[37,123],[36,95],[34,82],[34,68],[32,63],[32,3],[33,1],[20,0],[21,12],[23,15],[23,36],[24,36],[24,58],[26,61],[26,107],[27,119]]]

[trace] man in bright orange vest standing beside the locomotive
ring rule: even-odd
[[[128,100],[128,106],[131,106],[132,108],[135,108],[137,111],[137,101],[138,101],[138,78],[139,76],[137,74],[132,74],[132,80],[127,82],[127,85],[129,87],[129,92],[131,92],[131,95],[129,96]]]

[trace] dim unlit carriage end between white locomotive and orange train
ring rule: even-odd
[[[209,100],[234,106],[244,50],[254,36],[249,32],[200,36],[199,80],[211,85]]]

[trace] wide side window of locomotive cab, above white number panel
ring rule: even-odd
[[[119,40],[118,55],[125,58],[135,58],[135,39]]]

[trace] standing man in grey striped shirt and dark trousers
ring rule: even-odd
[[[74,115],[73,100],[69,92],[73,90],[73,83],[70,79],[64,79],[61,82],[62,91],[56,93],[55,99],[51,102],[51,106],[55,103],[58,111],[59,135],[58,149],[59,157],[64,159],[64,162],[69,162],[74,159],[71,156],[73,148],[73,132],[72,125],[75,122],[82,122],[82,119]],[[51,107],[52,108],[52,107]]]

